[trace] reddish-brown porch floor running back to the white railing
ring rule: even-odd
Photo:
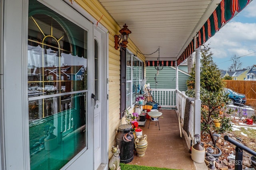
[[[182,170],[195,170],[189,147],[184,135],[180,138],[178,117],[175,110],[162,109],[162,116],[158,123],[146,120],[145,127],[140,126],[143,135],[147,135],[148,147],[144,157],[134,154],[132,162],[128,164],[154,166],[159,168],[173,168]],[[136,153],[136,151],[134,152]]]

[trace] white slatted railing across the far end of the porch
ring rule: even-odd
[[[161,107],[176,106],[176,90],[175,89],[151,89],[151,94],[156,103]]]

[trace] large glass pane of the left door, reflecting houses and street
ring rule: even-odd
[[[87,31],[30,0],[28,114],[31,170],[59,170],[86,148],[86,75]]]

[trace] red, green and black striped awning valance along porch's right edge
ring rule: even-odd
[[[204,23],[202,28],[198,31],[196,38],[196,48],[204,44],[210,37],[212,37],[225,23],[230,21],[236,13],[241,12],[250,0],[222,0],[218,7],[214,10],[212,15]],[[194,39],[177,60],[177,65],[182,63],[194,52]]]

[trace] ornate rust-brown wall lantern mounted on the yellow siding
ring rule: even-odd
[[[124,48],[127,47],[129,34],[132,33],[132,31],[130,31],[127,27],[128,26],[125,23],[123,28],[119,30],[121,35],[114,36],[115,37],[115,46],[114,47],[116,50],[119,49],[119,45]],[[120,43],[121,39],[122,39],[122,42]]]

